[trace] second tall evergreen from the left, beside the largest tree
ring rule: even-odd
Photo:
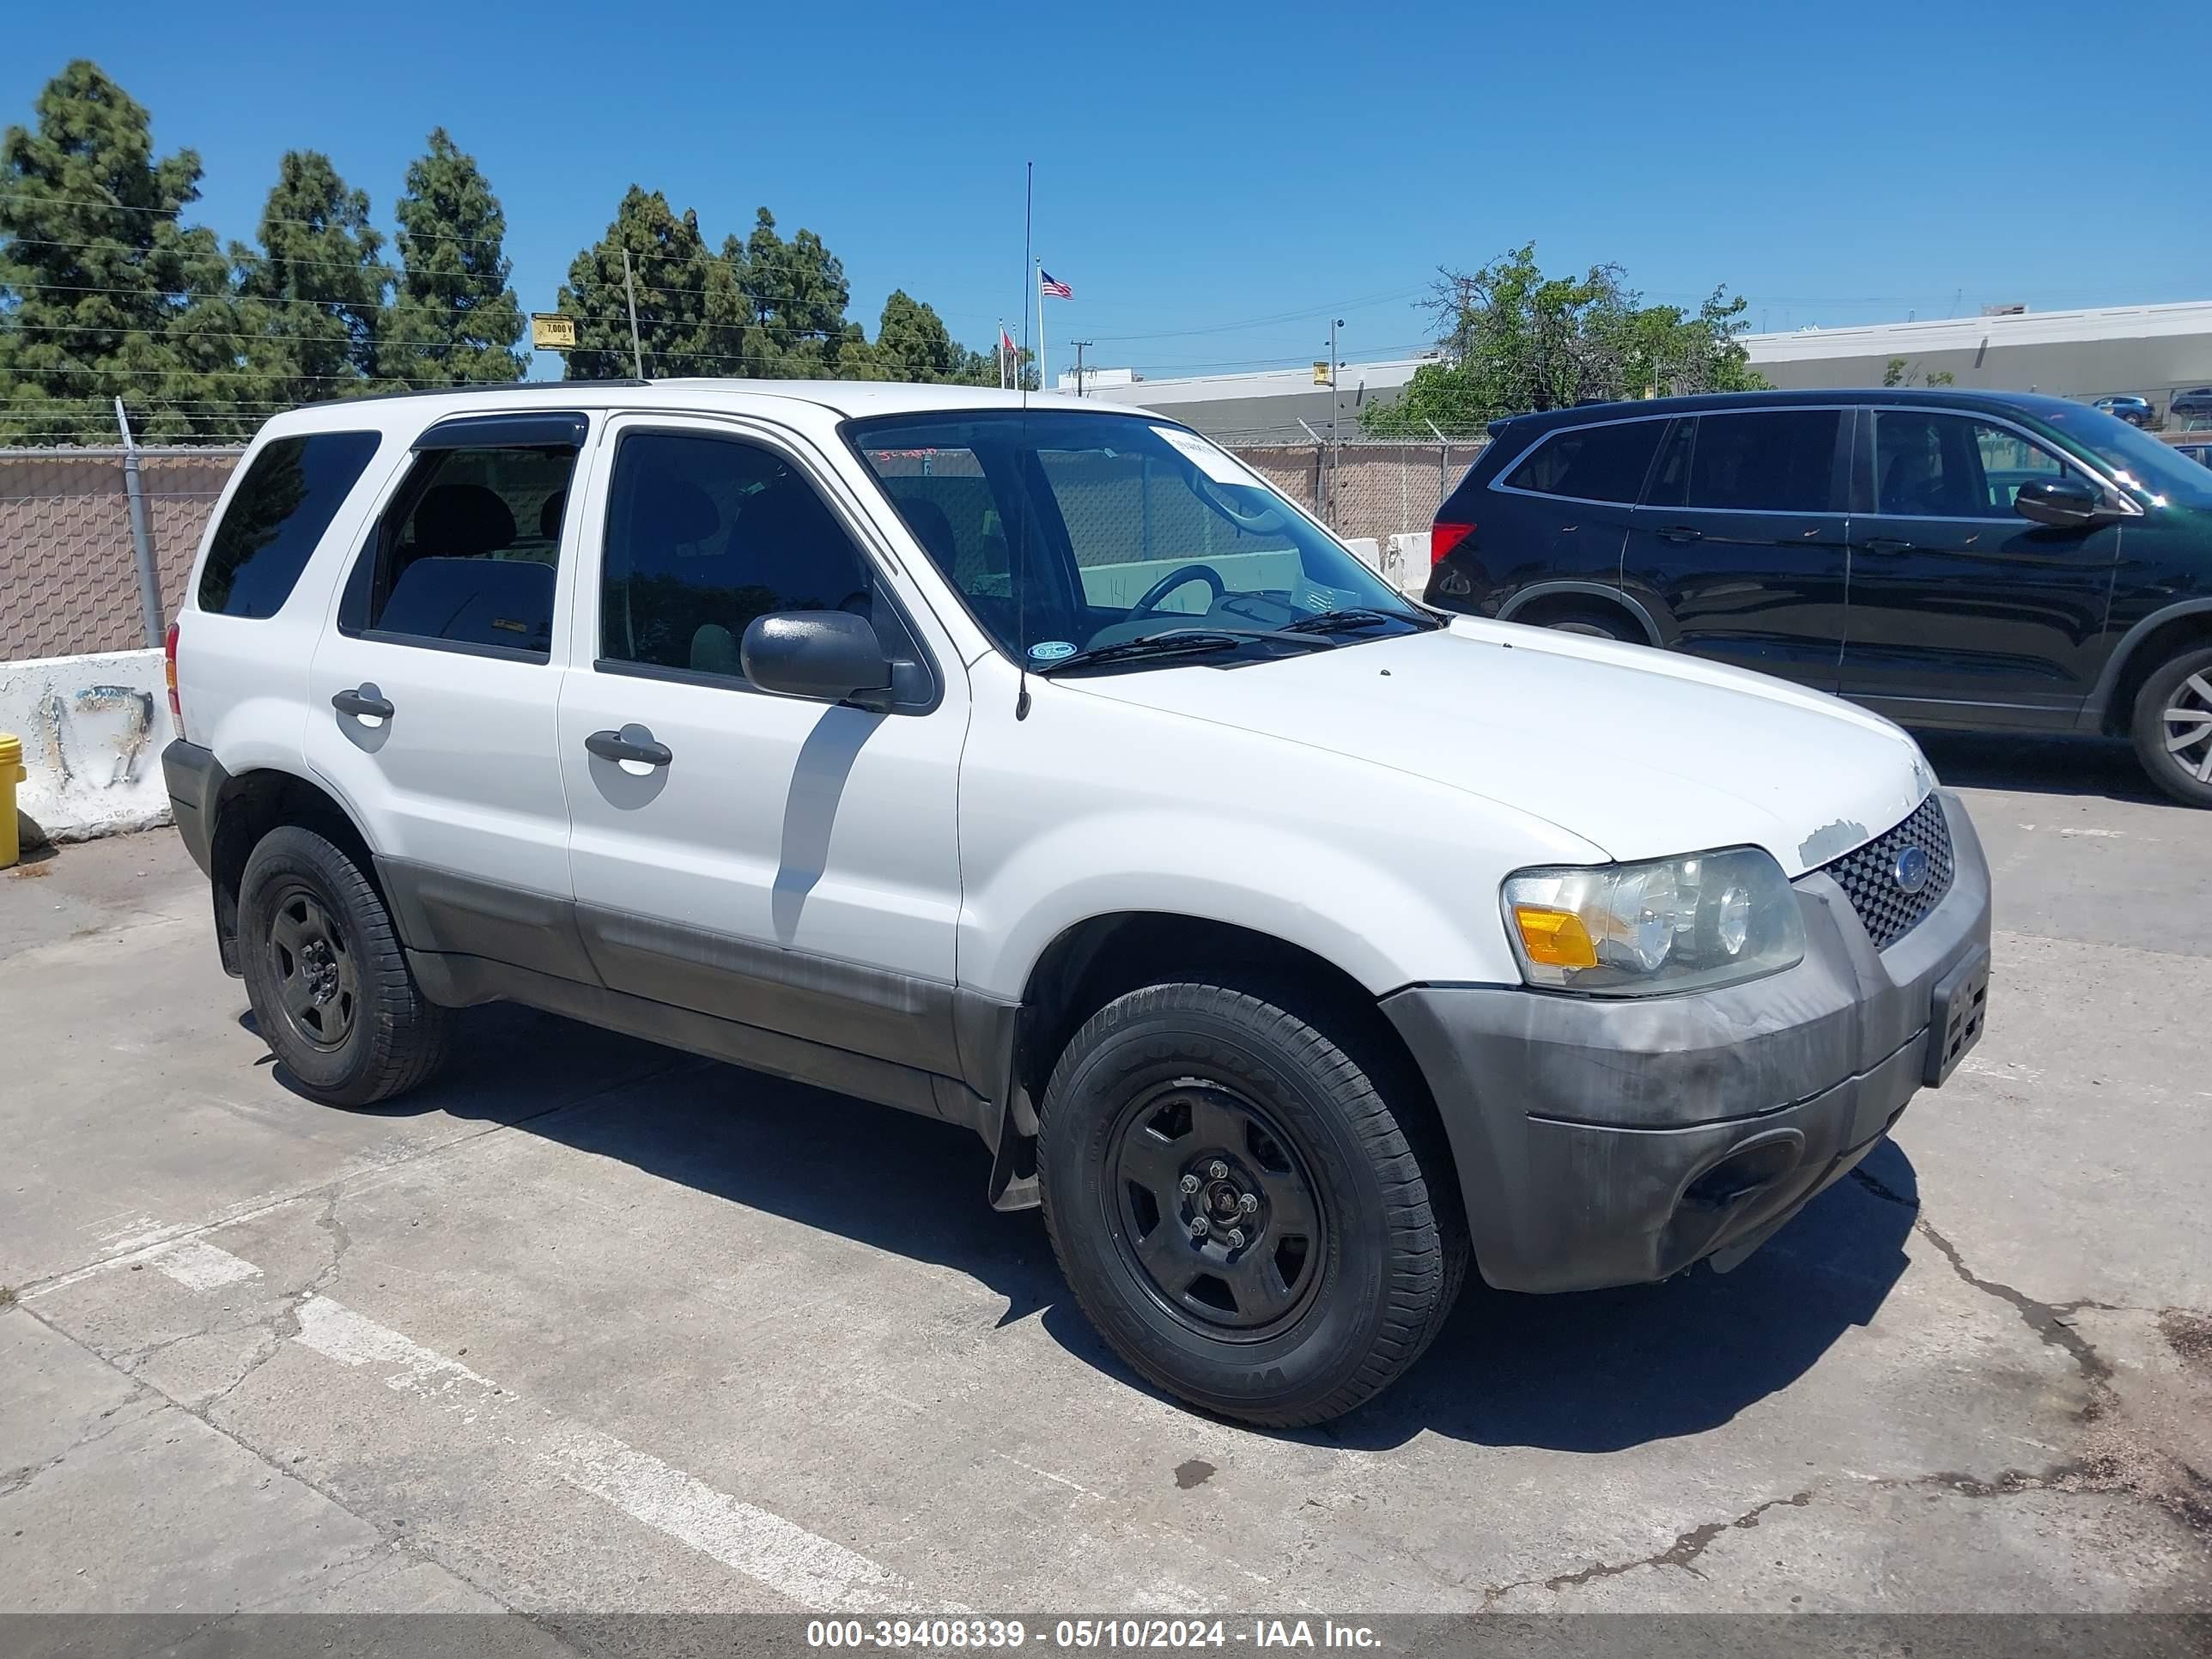
[[[246,387],[270,405],[378,385],[392,268],[369,197],[319,150],[288,150],[261,208],[261,246],[230,246],[239,272]]]

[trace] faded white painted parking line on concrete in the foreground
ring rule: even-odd
[[[168,1250],[155,1265],[195,1290],[230,1285],[261,1272],[206,1241]],[[933,1604],[891,1568],[759,1504],[714,1491],[611,1433],[542,1409],[522,1411],[518,1409],[522,1400],[511,1389],[330,1296],[307,1296],[299,1305],[299,1334],[292,1340],[338,1365],[376,1367],[385,1371],[385,1385],[394,1391],[460,1413],[462,1422],[495,1411],[502,1418],[502,1438],[566,1484],[799,1606],[838,1613],[962,1610]]]

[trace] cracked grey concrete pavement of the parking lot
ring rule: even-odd
[[[515,1009],[290,1095],[170,834],[0,878],[0,1610],[2212,1608],[2212,821],[1931,743],[1991,1031],[1730,1276],[1270,1436],[960,1130]],[[0,1298],[7,1301],[7,1298]]]

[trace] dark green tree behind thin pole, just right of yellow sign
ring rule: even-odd
[[[633,372],[630,312],[622,283],[628,252],[637,281],[637,334],[646,376],[743,374],[752,334],[737,272],[699,237],[699,215],[681,217],[659,190],[630,186],[615,221],[568,265],[560,310],[575,319],[571,380]]]

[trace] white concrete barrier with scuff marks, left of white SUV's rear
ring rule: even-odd
[[[170,739],[159,650],[0,661],[0,732],[22,739],[15,796],[33,838],[86,841],[168,823]]]

